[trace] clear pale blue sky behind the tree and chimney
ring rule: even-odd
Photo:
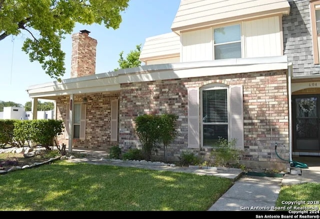
[[[76,24],[72,33],[82,29],[90,31],[89,36],[97,40],[96,74],[112,71],[118,67],[121,51],[125,57],[137,44],[143,46],[145,38],[171,32],[179,4],[180,0],[130,0],[118,29],[107,29],[98,24]],[[29,86],[54,81],[39,63],[30,62],[28,55],[21,50],[26,37],[28,34],[23,32],[0,41],[0,101],[24,105],[31,100],[26,92]],[[67,79],[70,78],[71,34],[62,40],[61,49],[65,52],[66,69],[61,78]]]

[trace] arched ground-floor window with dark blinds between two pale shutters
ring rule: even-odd
[[[203,146],[212,147],[219,139],[228,139],[227,89],[202,90]]]

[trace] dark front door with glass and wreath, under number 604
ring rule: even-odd
[[[320,151],[320,95],[293,95],[293,151]]]

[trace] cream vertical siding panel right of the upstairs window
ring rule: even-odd
[[[246,58],[282,55],[280,19],[272,16],[243,22]]]

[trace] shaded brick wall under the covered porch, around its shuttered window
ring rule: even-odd
[[[75,95],[74,103],[81,102],[84,95]],[[86,94],[85,140],[73,140],[73,148],[87,148],[107,151],[117,142],[110,142],[111,101],[119,98],[119,92]],[[66,104],[69,96],[61,96],[56,101],[57,119],[65,122]],[[59,144],[68,145],[63,133]]]

